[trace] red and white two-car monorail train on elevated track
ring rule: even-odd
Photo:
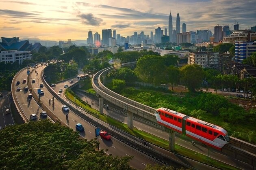
[[[159,124],[216,149],[221,149],[230,141],[228,132],[222,127],[174,110],[161,107],[156,109],[155,115]]]

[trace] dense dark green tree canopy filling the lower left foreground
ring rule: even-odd
[[[98,142],[81,140],[77,132],[48,119],[8,126],[0,138],[2,169],[133,169],[132,157],[106,155],[96,149]]]

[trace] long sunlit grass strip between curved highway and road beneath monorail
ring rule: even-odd
[[[107,115],[102,115],[99,113],[98,110],[95,110],[93,108],[90,107],[89,104],[84,104],[82,102],[80,102],[79,100],[75,100],[74,96],[72,96],[71,93],[69,93],[69,91],[65,91],[65,95],[70,99],[72,100],[73,103],[77,104],[78,106],[80,106],[81,108],[84,108],[85,110],[88,110],[89,113],[91,115],[93,115],[94,117],[97,117],[98,119],[110,124],[110,125],[113,125],[115,127],[117,127],[118,129],[120,130],[123,130],[124,132],[127,132],[129,134],[132,134],[134,136],[137,136],[138,138],[141,138],[141,139],[145,139],[147,140],[148,142],[152,143],[152,144],[156,144],[160,147],[163,147],[165,149],[168,149],[169,148],[169,142],[163,138],[159,138],[158,136],[155,136],[155,135],[152,135],[152,134],[149,134],[145,131],[142,131],[142,130],[139,130],[137,128],[133,128],[132,130],[130,130],[127,126],[127,124],[125,123],[121,123],[111,117],[107,117]],[[205,162],[207,164],[211,164],[213,166],[216,166],[217,168],[221,168],[221,169],[225,169],[225,170],[236,170],[237,168],[235,167],[232,167],[230,165],[227,165],[223,162],[220,162],[220,161],[217,161],[215,159],[212,159],[209,157],[209,160],[207,161],[207,156],[203,155],[203,154],[200,154],[200,153],[197,153],[197,152],[194,152],[194,151],[191,151],[190,149],[187,149],[187,148],[184,148],[184,147],[181,147],[179,145],[175,145],[175,153],[178,153],[180,155],[184,155],[184,156],[187,156],[187,157],[193,157],[193,159],[197,160],[197,161],[200,161],[200,162]]]

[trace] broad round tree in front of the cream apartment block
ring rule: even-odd
[[[201,86],[202,80],[205,77],[202,67],[197,64],[185,65],[180,69],[180,72],[180,81],[183,82],[188,87],[189,91],[192,92]]]

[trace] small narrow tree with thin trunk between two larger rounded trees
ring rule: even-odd
[[[171,90],[173,91],[174,83],[178,83],[180,78],[180,70],[174,66],[169,66],[166,70],[166,81],[171,84]]]

